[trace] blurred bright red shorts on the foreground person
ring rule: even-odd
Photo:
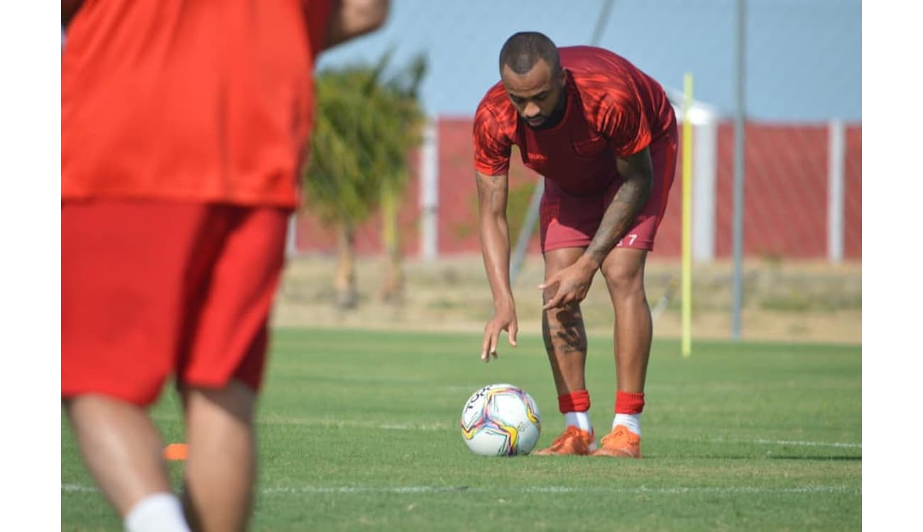
[[[289,211],[170,201],[61,208],[61,396],[147,406],[262,381]]]

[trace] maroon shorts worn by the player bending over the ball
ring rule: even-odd
[[[651,144],[653,188],[634,225],[618,241],[616,247],[631,247],[653,251],[653,237],[664,218],[666,199],[677,171],[677,130]],[[603,195],[571,195],[557,184],[545,180],[545,194],[539,208],[542,252],[565,247],[586,247],[603,219],[605,208],[612,202],[621,177]]]

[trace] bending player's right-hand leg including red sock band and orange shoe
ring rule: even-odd
[[[616,420],[595,454],[641,457],[641,409],[653,325],[644,291],[647,251],[615,248],[603,261],[603,277],[616,314]]]

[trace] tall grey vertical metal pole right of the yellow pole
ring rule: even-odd
[[[744,67],[746,66],[746,0],[737,0],[737,112],[734,117],[734,284],[731,338],[740,339],[740,309],[743,303],[744,247]]]

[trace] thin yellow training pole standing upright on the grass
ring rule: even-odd
[[[682,256],[682,350],[692,356],[692,74],[683,77],[683,256]]]

